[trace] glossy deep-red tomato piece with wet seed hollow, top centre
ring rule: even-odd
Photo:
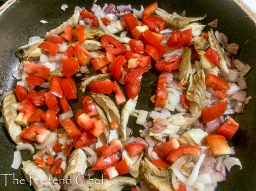
[[[102,35],[100,41],[107,54],[119,55],[126,51],[124,45],[112,36]]]

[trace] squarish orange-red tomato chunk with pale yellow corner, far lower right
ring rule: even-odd
[[[207,145],[213,151],[213,155],[227,155],[230,154],[230,148],[226,138],[219,134],[209,134],[205,137]]]

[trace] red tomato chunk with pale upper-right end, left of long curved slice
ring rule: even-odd
[[[179,146],[178,140],[176,138],[172,138],[159,146],[155,146],[153,150],[160,158],[164,158],[169,155],[172,150],[179,148]]]

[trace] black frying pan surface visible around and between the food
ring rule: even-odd
[[[97,4],[103,6],[104,3],[113,3],[115,5],[131,4],[136,9],[140,9],[140,4],[148,6],[154,3],[155,0],[147,0],[145,2],[136,0],[98,0]],[[247,74],[248,95],[253,99],[246,105],[243,114],[237,114],[234,119],[240,124],[238,132],[234,135],[230,146],[234,146],[236,154],[234,157],[240,159],[243,169],[233,167],[228,173],[227,181],[218,183],[217,191],[252,191],[256,190],[256,130],[255,124],[255,62],[256,62],[256,26],[255,15],[249,13],[247,15],[244,10],[238,6],[240,0],[158,0],[160,8],[168,12],[181,13],[187,11],[187,16],[198,17],[207,13],[207,18],[202,21],[207,24],[210,21],[218,19],[217,30],[228,36],[228,42],[235,42],[240,46],[240,51],[237,55],[244,63],[249,64],[252,69]],[[68,9],[62,11],[60,8],[62,3],[68,5]],[[9,91],[15,87],[15,79],[12,78],[12,73],[19,66],[19,60],[15,57],[15,51],[21,45],[25,45],[31,36],[43,37],[47,31],[53,29],[63,21],[66,21],[73,14],[75,6],[85,7],[90,9],[93,0],[9,0],[8,7],[0,8],[0,89]],[[246,10],[248,11],[248,10]],[[48,24],[41,24],[40,20],[49,21]],[[253,21],[254,20],[254,21]],[[209,30],[207,27],[205,30]],[[149,83],[150,82],[150,83]],[[153,95],[157,76],[154,73],[145,74],[142,79],[142,90],[139,93],[139,102],[137,108],[149,110],[154,107],[148,101],[148,95]],[[153,85],[152,85],[153,84]],[[80,95],[79,95],[80,96]],[[74,104],[79,102],[74,101]],[[130,117],[128,126],[133,128],[135,136],[138,134],[138,129],[133,117]],[[15,144],[9,137],[6,128],[0,125],[0,174],[15,174],[15,179],[25,179],[21,167],[18,170],[12,169],[13,152]],[[22,156],[28,159],[28,152],[23,152]],[[5,186],[6,183],[6,186]],[[25,184],[17,184],[13,182],[13,175],[0,175],[0,190],[5,191],[31,191],[32,187]]]

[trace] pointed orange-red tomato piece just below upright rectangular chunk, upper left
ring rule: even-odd
[[[83,48],[78,43],[76,43],[74,55],[77,58],[77,61],[83,66],[88,64],[92,58],[92,54],[90,54],[85,48]]]

